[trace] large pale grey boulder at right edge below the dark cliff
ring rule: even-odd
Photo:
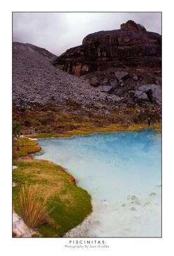
[[[134,97],[161,105],[162,88],[157,84],[143,84],[136,90]]]

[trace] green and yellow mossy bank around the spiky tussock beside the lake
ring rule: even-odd
[[[27,156],[40,150],[36,141],[20,138],[16,157],[13,164],[18,166],[13,170],[13,209],[20,214],[19,193],[22,184],[38,184],[43,198],[48,195],[47,207],[50,213],[50,223],[38,227],[43,237],[61,237],[71,228],[82,223],[92,212],[91,196],[75,184],[74,178],[64,168],[45,160],[36,160]],[[27,157],[26,157],[27,156]]]

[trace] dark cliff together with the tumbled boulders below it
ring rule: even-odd
[[[117,30],[87,35],[54,65],[88,78],[99,92],[121,97],[126,106],[161,105],[161,35],[133,20]]]

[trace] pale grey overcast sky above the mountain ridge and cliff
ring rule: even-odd
[[[13,41],[30,43],[59,56],[101,30],[119,29],[127,20],[161,34],[161,13],[13,13]]]

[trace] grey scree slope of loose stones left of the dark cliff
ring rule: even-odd
[[[67,100],[82,106],[105,104],[105,93],[92,87],[86,79],[54,67],[54,58],[54,54],[40,47],[13,42],[13,106],[53,102],[62,107]],[[110,95],[107,100],[115,104],[120,97]]]

